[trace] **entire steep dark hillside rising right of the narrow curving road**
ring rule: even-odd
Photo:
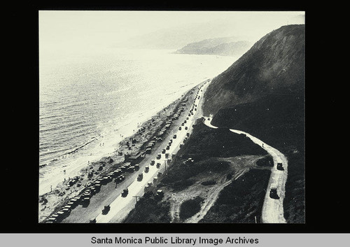
[[[304,223],[304,25],[265,35],[204,95],[212,124],[248,132],[288,158],[288,223]]]

